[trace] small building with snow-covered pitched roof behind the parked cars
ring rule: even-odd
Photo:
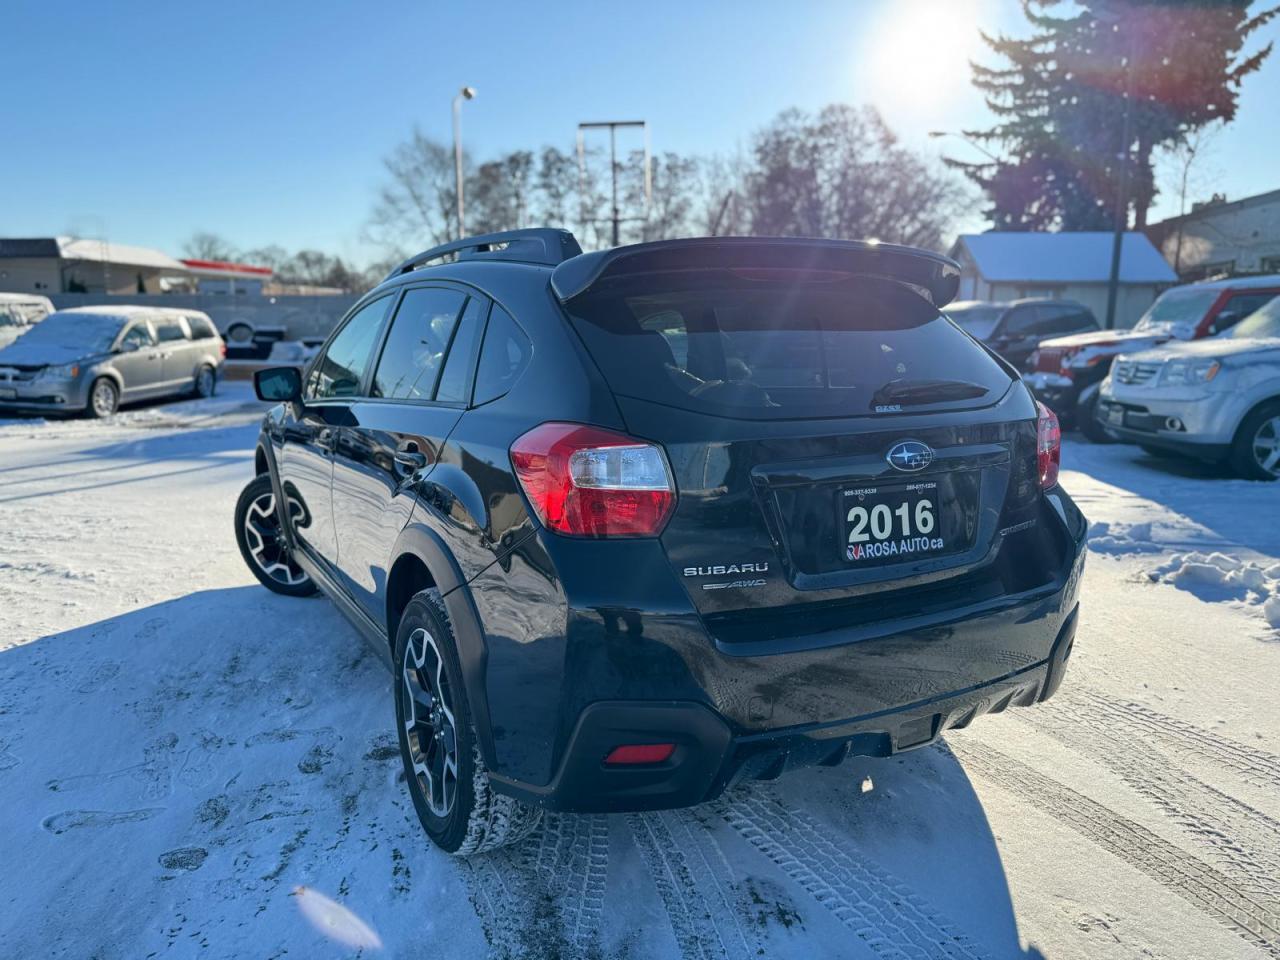
[[[952,259],[960,262],[956,300],[1075,300],[1106,323],[1111,244],[1112,234],[1102,232],[961,234],[951,247]],[[1146,236],[1124,234],[1115,325],[1133,326],[1176,280]]]

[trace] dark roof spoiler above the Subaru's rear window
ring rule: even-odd
[[[704,237],[582,253],[552,271],[552,289],[566,303],[604,278],[744,266],[844,270],[883,276],[918,288],[936,307],[955,300],[960,287],[956,261],[918,247],[801,237]]]

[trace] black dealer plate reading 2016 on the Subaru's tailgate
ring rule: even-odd
[[[928,559],[965,545],[956,525],[942,513],[954,509],[954,493],[943,494],[937,480],[846,486],[838,499],[845,531],[841,549],[851,566]]]

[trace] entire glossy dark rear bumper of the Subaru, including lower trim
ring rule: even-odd
[[[566,621],[522,632],[521,609],[553,602],[536,595],[539,582],[549,588],[539,571],[552,558],[532,538],[494,573],[495,588],[525,588],[520,609],[484,588],[488,575],[471,585],[480,622],[502,623],[485,631],[481,708],[494,785],[558,810],[685,806],[739,780],[888,756],[984,713],[1043,700],[1061,684],[1074,643],[1085,529],[1070,498],[1050,492],[1028,541],[1010,547],[1009,571],[868,600],[835,618],[792,614],[790,636],[755,641],[717,635],[689,611],[684,586],[668,584],[669,564],[646,553],[653,541],[625,545],[631,557],[621,541],[608,553],[589,541],[556,544],[572,548],[586,573],[572,599],[558,594]],[[1010,590],[1009,577],[1028,566],[1044,580]],[[614,746],[645,742],[676,751],[649,767],[604,764]]]

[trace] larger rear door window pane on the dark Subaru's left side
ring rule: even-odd
[[[444,287],[417,287],[404,293],[374,374],[374,397],[435,397],[435,379],[465,300],[466,294]]]

